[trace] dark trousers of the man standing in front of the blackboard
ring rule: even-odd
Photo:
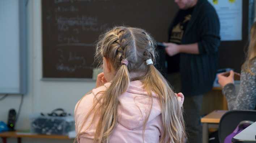
[[[174,88],[174,92],[181,91],[181,80],[179,73],[168,74],[168,81]],[[188,143],[202,142],[202,124],[200,112],[202,109],[202,95],[184,95],[183,118],[185,120]]]

